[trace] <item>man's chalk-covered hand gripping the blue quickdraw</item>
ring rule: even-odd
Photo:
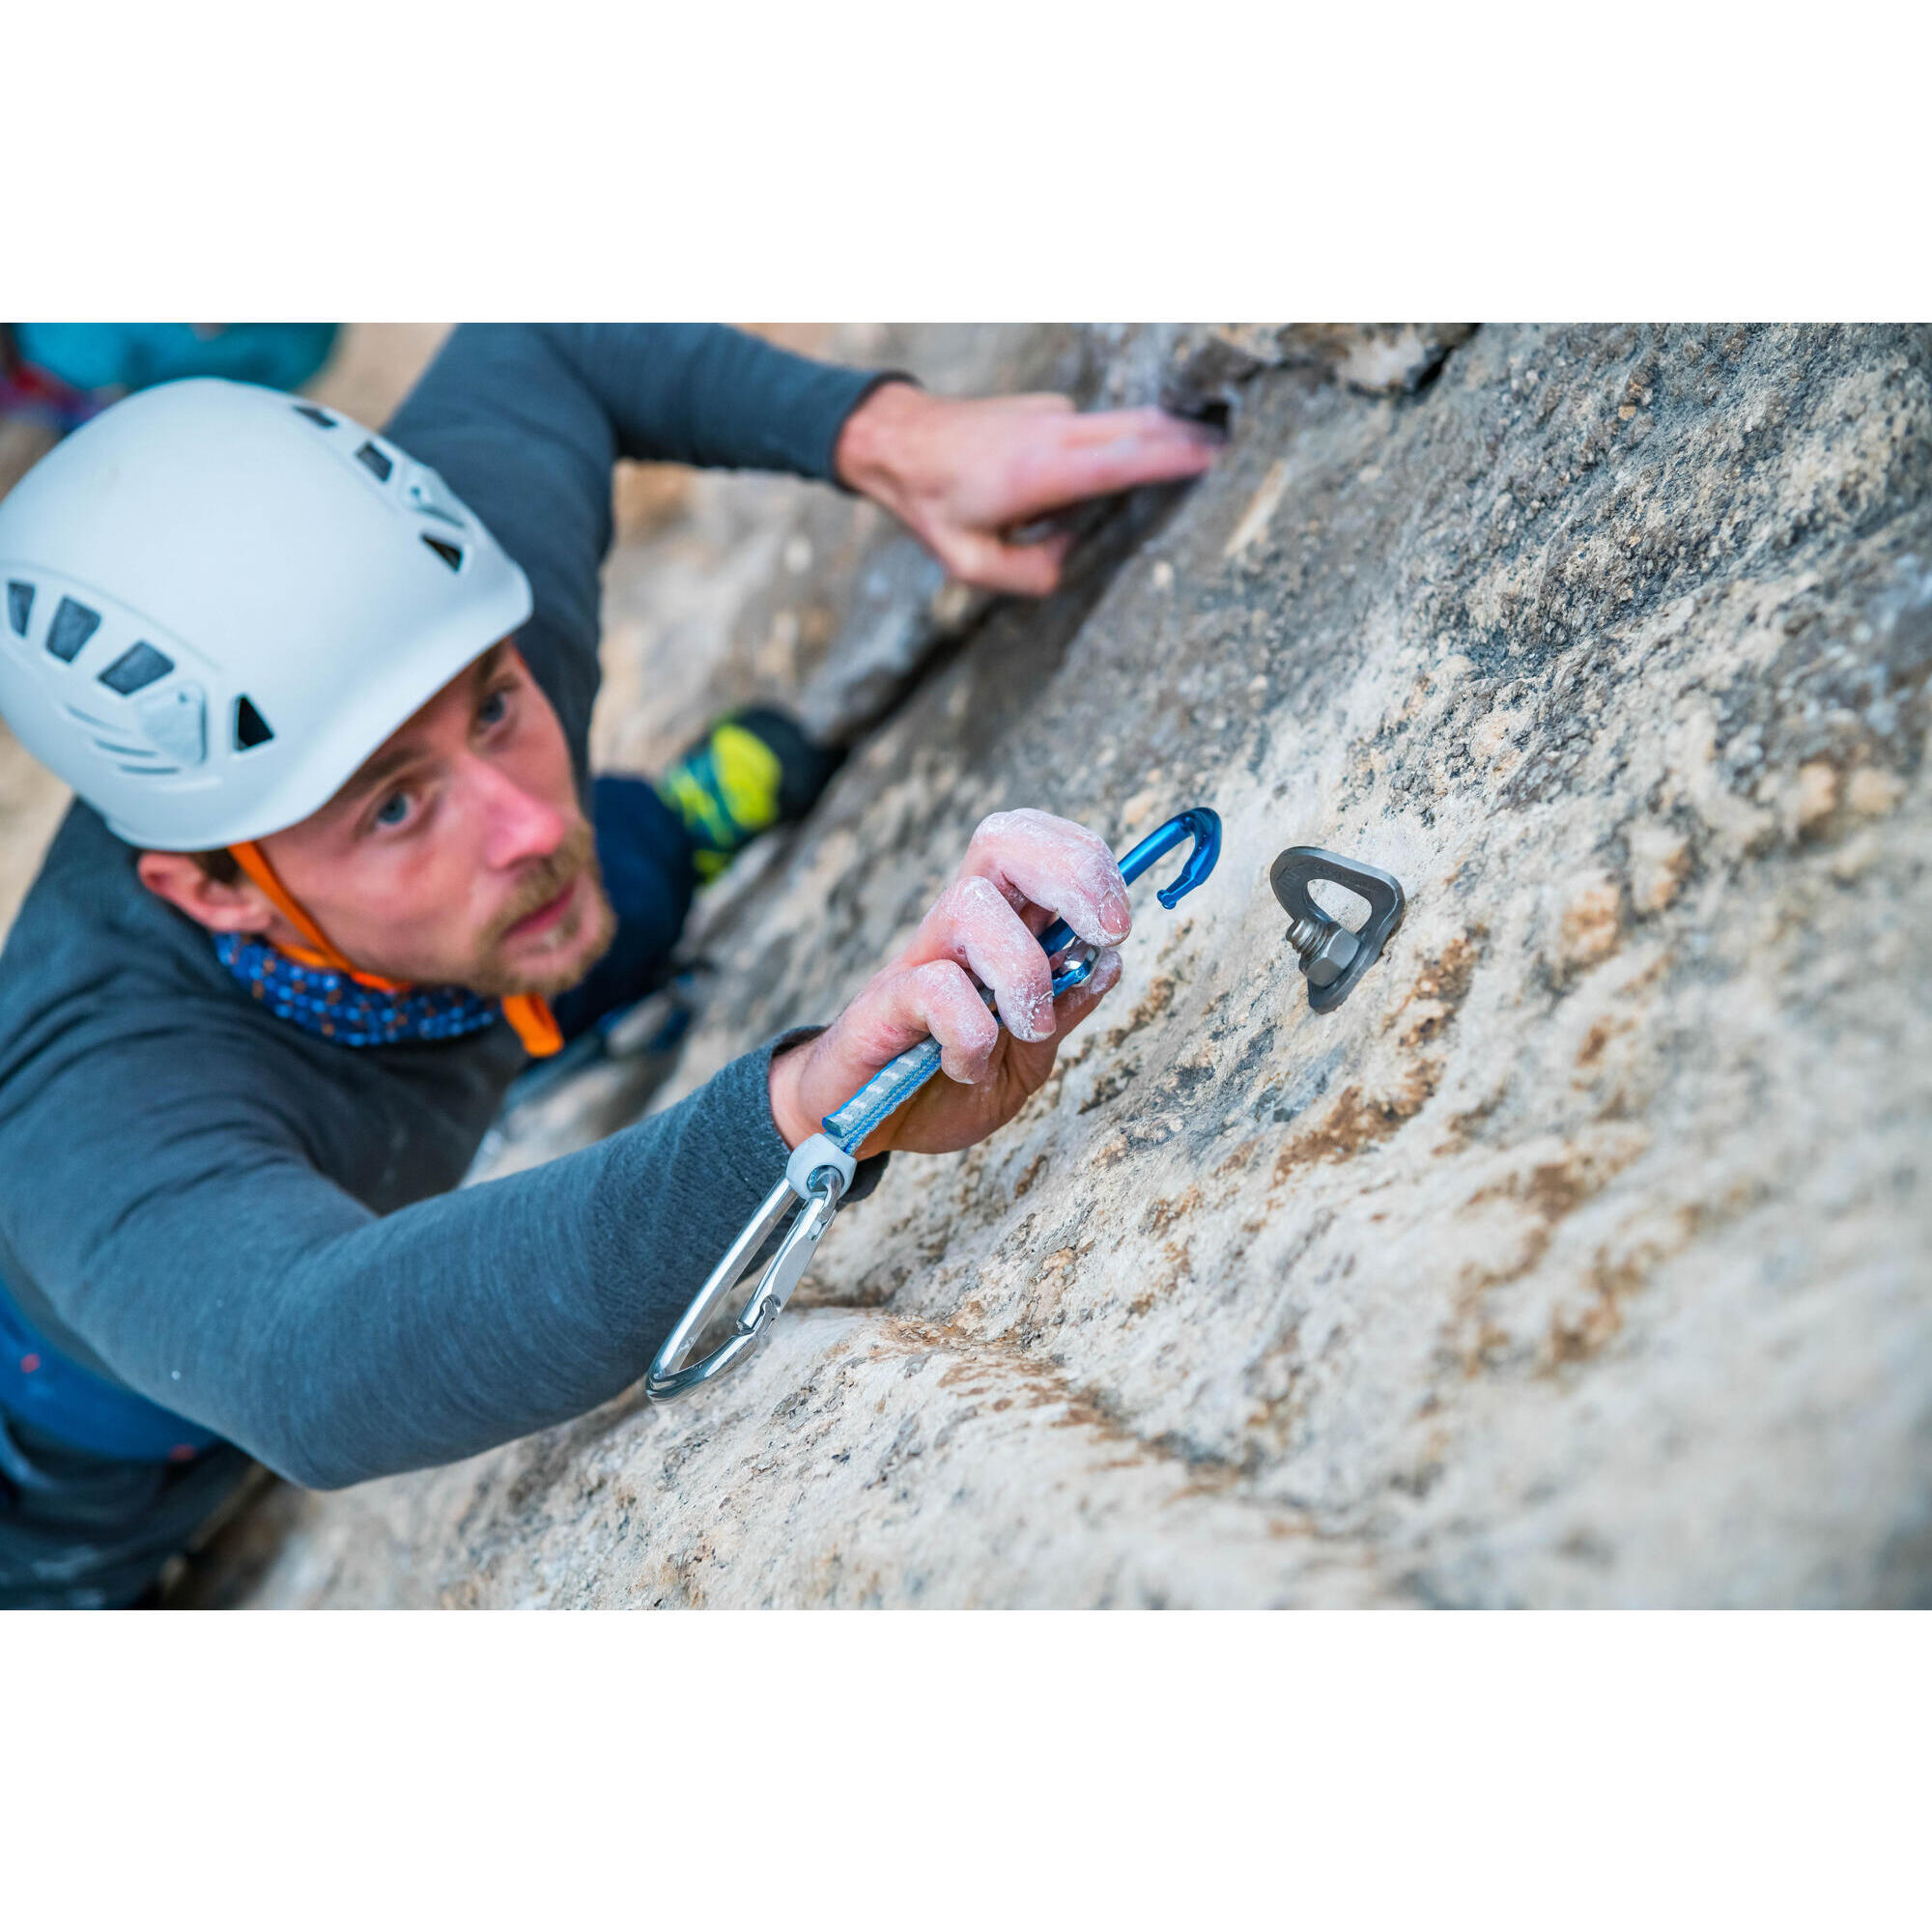
[[[1092,978],[1059,1001],[1034,939],[1055,918],[1103,949]],[[810,1140],[927,1034],[947,1078],[920,1088],[858,1153],[951,1153],[983,1140],[1045,1082],[1061,1041],[1121,978],[1115,947],[1132,925],[1126,883],[1097,833],[1045,811],[995,811],[912,943],[823,1034],[773,1057],[771,1117],[784,1144]],[[1005,1026],[993,1024],[980,985],[991,987]]]

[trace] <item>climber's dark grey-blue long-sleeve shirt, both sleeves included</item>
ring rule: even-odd
[[[709,327],[458,330],[388,435],[529,574],[518,636],[587,769],[611,464],[831,475],[877,381]],[[786,1148],[771,1047],[663,1115],[450,1192],[508,1026],[290,1026],[77,804],[0,954],[0,1281],[95,1368],[315,1488],[471,1455],[638,1379]]]

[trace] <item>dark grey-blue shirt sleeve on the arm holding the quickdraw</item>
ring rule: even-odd
[[[272,1107],[129,1041],[10,1121],[37,1173],[8,1244],[114,1376],[292,1482],[450,1463],[645,1372],[784,1173],[775,1045],[593,1148],[375,1215]]]

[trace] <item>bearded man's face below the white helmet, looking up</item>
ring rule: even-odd
[[[564,730],[508,641],[261,848],[334,945],[384,980],[554,995],[616,931]]]

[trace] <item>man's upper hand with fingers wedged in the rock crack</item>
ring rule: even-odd
[[[835,468],[958,578],[1045,597],[1072,537],[1009,531],[1088,497],[1200,475],[1221,437],[1165,410],[1076,413],[1068,396],[952,402],[910,383],[875,388],[846,419]]]

